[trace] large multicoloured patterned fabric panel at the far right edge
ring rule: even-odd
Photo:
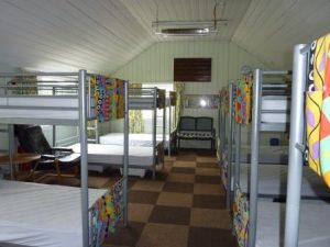
[[[330,187],[330,34],[312,42],[308,69],[308,165]]]

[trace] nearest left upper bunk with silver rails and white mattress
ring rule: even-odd
[[[0,74],[0,122],[3,124],[78,125],[97,117],[90,75],[79,72]],[[79,87],[80,86],[80,87]],[[82,87],[84,86],[84,87]]]

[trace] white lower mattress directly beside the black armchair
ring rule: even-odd
[[[80,153],[80,144],[69,146],[75,153]],[[123,146],[107,144],[88,144],[88,162],[101,165],[122,165]],[[129,147],[129,166],[153,166],[152,147]]]

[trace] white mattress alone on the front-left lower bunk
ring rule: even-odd
[[[89,189],[89,205],[105,192]],[[0,246],[82,246],[80,188],[0,179]]]

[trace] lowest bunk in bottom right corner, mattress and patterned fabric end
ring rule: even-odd
[[[256,247],[278,247],[284,242],[285,203],[270,199],[258,199]],[[327,221],[330,214],[329,201],[301,200],[299,242],[300,247],[328,247],[330,243]],[[234,233],[240,247],[248,247],[249,240],[249,202],[239,190],[233,207]]]

